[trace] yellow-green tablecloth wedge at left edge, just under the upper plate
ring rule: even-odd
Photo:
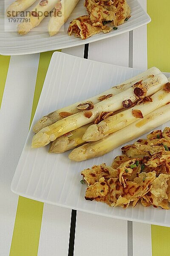
[[[6,83],[6,76],[8,73],[10,56],[0,55],[0,106],[3,99],[3,91]]]

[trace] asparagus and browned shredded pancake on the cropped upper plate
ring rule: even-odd
[[[35,0],[16,0],[8,6],[6,15],[17,16],[34,2]],[[20,35],[26,35],[54,9],[48,23],[48,33],[50,36],[56,35],[78,2],[79,0],[41,0],[31,12],[26,14],[28,21],[20,23],[17,26],[17,32]],[[130,17],[130,7],[126,0],[85,0],[85,8],[88,15],[75,18],[68,28],[68,35],[75,33],[77,37],[86,39],[99,32],[107,33],[112,29],[117,29],[118,25]],[[106,26],[105,23],[109,21],[111,21],[111,26]]]

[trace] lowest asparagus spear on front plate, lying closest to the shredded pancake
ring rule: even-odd
[[[164,124],[170,120],[170,104],[157,108],[144,119],[137,120],[125,128],[109,134],[108,137],[96,142],[86,143],[75,148],[69,154],[74,161],[83,161],[93,157],[102,156],[130,140],[136,139],[142,134]]]

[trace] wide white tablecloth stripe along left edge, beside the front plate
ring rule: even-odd
[[[0,109],[0,254],[9,255],[18,196],[10,183],[28,134],[39,54],[11,56]]]

